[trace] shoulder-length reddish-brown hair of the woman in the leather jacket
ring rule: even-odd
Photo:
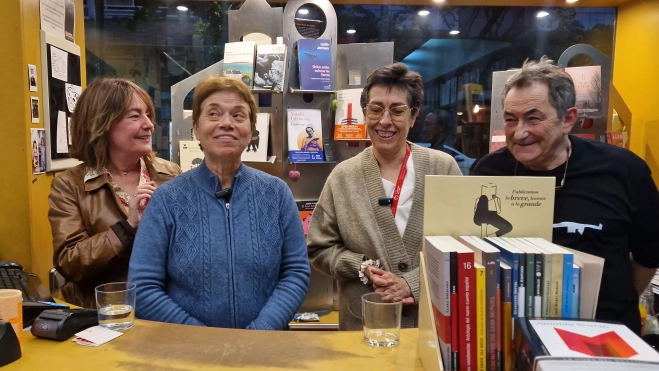
[[[128,112],[135,95],[144,102],[146,115],[153,121],[155,108],[151,97],[137,84],[126,79],[100,78],[87,85],[71,115],[71,157],[93,169],[106,167],[110,129]],[[151,163],[153,154],[144,159]]]

